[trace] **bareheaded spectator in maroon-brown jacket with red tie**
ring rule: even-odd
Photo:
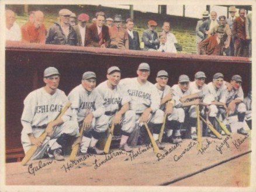
[[[96,13],[96,22],[87,28],[85,36],[86,47],[102,47],[109,46],[109,28],[104,25],[106,16],[104,12]]]

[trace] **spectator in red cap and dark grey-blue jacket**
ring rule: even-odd
[[[144,30],[142,34],[142,41],[144,42],[144,49],[149,51],[157,50],[159,46],[159,39],[155,28],[157,27],[157,22],[154,20],[149,20],[147,23],[148,29]]]

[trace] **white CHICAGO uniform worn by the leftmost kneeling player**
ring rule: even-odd
[[[39,137],[44,132],[47,124],[55,120],[67,103],[68,98],[60,89],[57,89],[53,95],[47,93],[44,88],[36,89],[27,95],[24,100],[24,109],[21,117],[23,125],[21,140],[25,153],[32,146],[27,134],[33,132],[34,137]],[[71,121],[71,116],[72,111],[69,109],[61,117],[64,123],[54,128],[51,138],[47,137],[44,140],[43,145],[34,153],[32,159],[43,158],[48,146],[53,150],[60,148],[61,146],[56,140],[61,134],[75,136],[79,134],[78,124],[76,121]]]

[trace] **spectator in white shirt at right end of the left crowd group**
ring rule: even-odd
[[[177,39],[173,33],[170,32],[171,25],[169,22],[164,22],[162,25],[162,30],[166,35],[166,44],[167,44],[167,51],[169,53],[177,53],[175,44],[177,44]],[[160,37],[159,37],[160,38]]]

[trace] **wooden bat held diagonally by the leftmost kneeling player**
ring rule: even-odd
[[[63,114],[65,113],[65,111],[67,111],[70,106],[71,106],[71,103],[68,102],[65,105],[65,107],[63,107],[63,109],[58,114],[58,116],[56,118],[54,118],[53,121],[57,120],[57,118],[61,118],[63,116]],[[43,142],[44,139],[46,138],[46,136],[47,136],[47,133],[45,131],[42,132],[42,134],[39,136],[40,141]],[[37,146],[32,145],[31,148],[26,152],[25,157],[22,159],[22,165],[26,165],[26,163],[30,160],[30,158],[32,158],[32,156],[34,155],[34,152],[36,152],[36,150],[37,150]]]

